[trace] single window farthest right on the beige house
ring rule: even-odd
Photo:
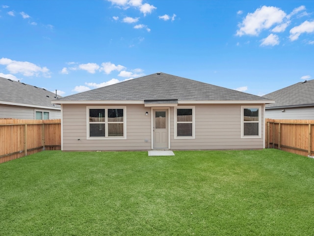
[[[241,107],[241,137],[261,138],[261,106]]]

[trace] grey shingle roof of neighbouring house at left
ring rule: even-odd
[[[61,110],[53,92],[0,77],[0,104]]]

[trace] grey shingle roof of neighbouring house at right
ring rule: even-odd
[[[299,82],[284,89],[268,93],[264,98],[275,100],[266,109],[314,106],[314,80]]]

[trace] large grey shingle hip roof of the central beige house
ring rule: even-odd
[[[195,80],[158,72],[118,84],[93,89],[52,101],[53,103],[92,101],[137,101],[138,103],[180,103],[192,101],[273,102],[260,96],[226,89]]]

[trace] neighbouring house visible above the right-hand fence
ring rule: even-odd
[[[275,100],[266,105],[265,118],[314,119],[314,80],[299,82],[263,97]]]

